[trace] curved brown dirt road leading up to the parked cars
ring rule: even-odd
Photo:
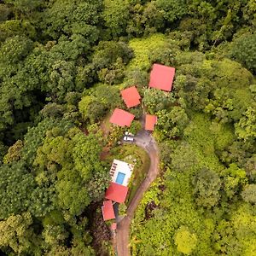
[[[129,231],[131,219],[133,218],[134,212],[137,205],[143,198],[144,192],[149,188],[149,185],[154,181],[159,172],[159,154],[158,148],[154,141],[154,137],[148,133],[148,131],[140,131],[135,137],[137,146],[145,149],[150,157],[150,166],[147,177],[143,180],[140,187],[137,189],[136,195],[133,197],[128,209],[127,216],[122,218],[117,224],[116,230],[116,247],[118,256],[129,256],[130,248],[129,244]]]

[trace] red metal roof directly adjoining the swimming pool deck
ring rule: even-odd
[[[128,192],[128,188],[118,183],[110,183],[105,197],[108,200],[116,201],[119,203],[125,202],[125,198]]]

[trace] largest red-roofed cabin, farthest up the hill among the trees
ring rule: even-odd
[[[174,67],[154,64],[150,73],[149,87],[171,91],[174,75]]]

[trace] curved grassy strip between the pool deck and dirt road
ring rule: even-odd
[[[110,155],[106,160],[111,163],[113,159],[124,160],[127,163],[135,165],[129,183],[129,194],[126,199],[127,205],[129,205],[137,188],[147,175],[150,166],[149,156],[143,148],[139,148],[137,145],[124,144],[110,150]]]

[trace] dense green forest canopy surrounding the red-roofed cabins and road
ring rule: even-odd
[[[0,1],[0,253],[110,253],[101,154],[123,130],[101,128],[136,84],[161,174],[131,253],[256,254],[255,28],[254,0]],[[171,93],[148,90],[155,62]]]

